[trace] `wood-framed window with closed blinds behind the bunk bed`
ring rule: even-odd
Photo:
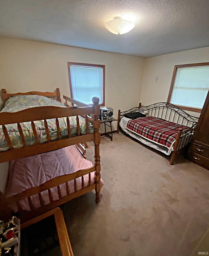
[[[105,65],[68,62],[71,97],[92,104],[99,97],[100,106],[105,106]]]

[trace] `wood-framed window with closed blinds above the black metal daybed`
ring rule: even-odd
[[[201,112],[209,89],[209,62],[174,67],[168,103]]]

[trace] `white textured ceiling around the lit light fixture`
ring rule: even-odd
[[[105,29],[124,14],[133,30]],[[209,0],[0,0],[0,36],[156,56],[209,46]]]

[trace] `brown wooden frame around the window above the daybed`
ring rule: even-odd
[[[171,84],[170,84],[169,96],[168,96],[168,100],[167,100],[168,105],[172,104],[172,103],[170,103],[170,99],[171,99],[171,95],[172,95],[172,91],[173,91],[173,86],[174,86],[174,81],[175,81],[177,69],[178,68],[187,68],[187,67],[198,67],[198,66],[209,66],[209,62],[175,65],[174,66],[173,76],[172,76]],[[185,106],[180,106],[180,105],[176,105],[176,106],[181,108],[181,109],[184,109],[184,110],[198,112],[198,113],[201,113],[201,111],[202,111],[202,109],[200,109],[200,108],[191,108],[191,107],[185,107]]]

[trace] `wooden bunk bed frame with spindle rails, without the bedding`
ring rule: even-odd
[[[54,100],[61,102],[60,99],[60,91],[57,88],[56,92],[38,92],[38,91],[30,91],[26,93],[7,93],[5,89],[2,89],[2,96],[4,100],[7,100],[10,97],[17,96],[17,95],[40,95],[51,97]],[[0,152],[0,163],[13,161],[15,159],[25,158],[27,159],[30,156],[34,156],[37,154],[49,152],[56,149],[65,148],[75,144],[86,143],[88,141],[94,142],[94,166],[89,167],[87,169],[81,169],[71,174],[61,175],[55,177],[47,182],[41,184],[40,186],[30,187],[25,191],[11,195],[6,197],[0,191],[0,216],[1,219],[8,220],[13,214],[11,210],[11,205],[15,205],[18,209],[19,218],[21,219],[21,223],[28,221],[44,212],[47,212],[63,203],[66,203],[73,198],[76,198],[82,194],[85,194],[93,189],[96,191],[96,203],[100,202],[100,189],[101,189],[101,175],[100,175],[100,153],[99,153],[99,146],[100,146],[100,106],[99,106],[99,98],[94,97],[92,99],[93,105],[86,105],[75,101],[69,97],[64,96],[65,102],[67,106],[69,106],[72,102],[77,106],[71,107],[54,107],[54,106],[41,106],[41,107],[34,107],[24,109],[18,112],[1,112],[0,113],[0,128],[2,127],[5,140],[8,144],[8,150]],[[93,115],[93,118],[89,116],[89,114]],[[75,116],[76,118],[76,133],[71,134],[71,124],[70,118]],[[79,125],[79,116],[82,116],[85,119],[86,123],[86,134],[82,134],[80,131]],[[62,136],[60,127],[59,127],[59,120],[60,118],[66,118],[67,122],[67,136]],[[57,128],[57,139],[51,140],[49,127],[47,125],[47,120],[55,119],[56,120],[56,128]],[[39,137],[37,135],[36,129],[36,121],[44,120],[44,127],[46,132],[47,141],[41,143]],[[24,132],[22,129],[22,123],[30,122],[32,133],[34,136],[34,145],[28,146],[25,140]],[[89,123],[93,126],[93,132],[90,132],[88,129]],[[12,141],[10,139],[7,125],[16,124],[19,135],[22,141],[23,147],[15,148],[13,147]],[[82,147],[80,147],[82,149]],[[43,154],[41,154],[43,155]],[[55,170],[56,171],[56,170]],[[94,172],[94,183],[91,184],[91,174]],[[84,183],[84,177],[88,176],[88,185],[86,186]],[[77,186],[77,180],[80,179],[81,181],[81,188]],[[70,191],[69,182],[72,181],[74,184],[74,191]],[[61,186],[65,189],[65,196],[61,193]],[[52,190],[56,189],[58,194],[58,200],[54,200],[52,195]],[[43,192],[47,193],[49,198],[49,203],[45,204],[43,200]],[[37,195],[40,203],[40,207],[36,208],[33,204],[31,198]],[[29,204],[30,211],[25,211],[21,205],[21,200],[26,200]]]

